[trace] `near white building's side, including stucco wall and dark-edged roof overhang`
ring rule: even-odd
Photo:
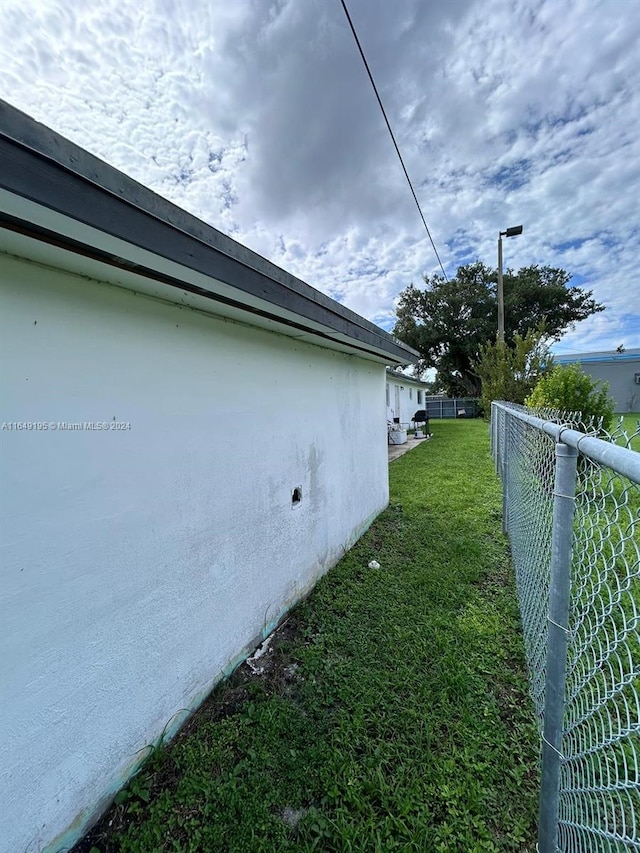
[[[388,502],[415,353],[0,104],[0,851],[71,846]]]

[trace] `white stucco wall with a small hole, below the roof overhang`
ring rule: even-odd
[[[69,844],[388,501],[382,365],[0,256],[0,851]],[[302,486],[292,509],[291,492]]]

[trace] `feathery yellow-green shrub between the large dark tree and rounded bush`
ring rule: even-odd
[[[481,402],[485,414],[493,400],[524,403],[539,380],[553,368],[553,356],[546,343],[546,329],[537,329],[522,337],[517,332],[513,346],[493,341],[480,346],[480,358],[474,369],[482,382]]]

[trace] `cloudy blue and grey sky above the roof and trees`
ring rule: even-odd
[[[562,267],[640,347],[640,0],[348,0],[447,276]],[[387,330],[439,264],[340,0],[0,0],[0,97]]]

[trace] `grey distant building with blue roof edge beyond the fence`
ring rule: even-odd
[[[593,379],[609,383],[616,412],[640,412],[640,349],[555,356],[556,364],[579,364]]]

